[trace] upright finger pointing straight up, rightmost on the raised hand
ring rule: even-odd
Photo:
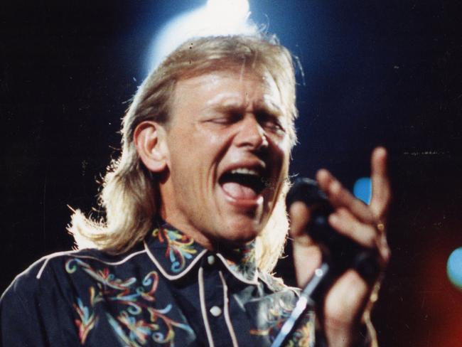
[[[377,147],[372,152],[371,171],[372,198],[370,208],[375,217],[382,220],[387,214],[391,198],[390,180],[387,174],[387,151],[385,148]]]

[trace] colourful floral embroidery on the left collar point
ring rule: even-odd
[[[171,262],[171,271],[178,273],[183,271],[187,260],[193,259],[198,250],[195,249],[195,242],[191,237],[173,228],[161,227],[152,232],[161,243],[166,242],[166,258]]]

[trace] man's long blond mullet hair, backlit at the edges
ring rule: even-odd
[[[144,239],[153,228],[159,212],[159,187],[156,178],[144,167],[134,146],[136,126],[154,120],[168,126],[169,105],[178,80],[217,70],[251,70],[272,75],[289,117],[291,146],[296,142],[294,64],[289,51],[276,38],[262,36],[217,36],[187,41],[168,55],[139,87],[122,120],[122,154],[107,168],[98,204],[106,218],[86,218],[75,210],[68,230],[77,247],[96,247],[122,253]],[[281,254],[288,221],[285,193],[288,168],[283,168],[284,183],[271,216],[257,237],[257,266],[270,272]]]

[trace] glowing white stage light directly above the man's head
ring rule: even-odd
[[[200,9],[173,18],[154,40],[148,69],[159,65],[189,38],[254,33],[256,28],[249,15],[247,0],[208,0]]]

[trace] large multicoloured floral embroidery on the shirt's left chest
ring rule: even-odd
[[[119,279],[109,272],[109,268],[93,269],[87,262],[72,258],[65,264],[66,271],[73,274],[82,269],[97,281],[97,289],[90,287],[90,308],[77,299],[75,309],[80,319],[75,323],[79,329],[80,341],[85,343],[88,333],[95,327],[97,316],[90,310],[100,301],[114,301],[122,305],[117,317],[106,314],[121,343],[124,346],[145,346],[152,339],[156,343],[174,346],[175,328],[193,333],[190,326],[181,324],[168,317],[172,305],[163,309],[153,307],[156,298],[154,294],[159,284],[159,274],[152,271],[146,274],[141,285],[136,284],[136,278]],[[143,319],[149,315],[149,321]]]

